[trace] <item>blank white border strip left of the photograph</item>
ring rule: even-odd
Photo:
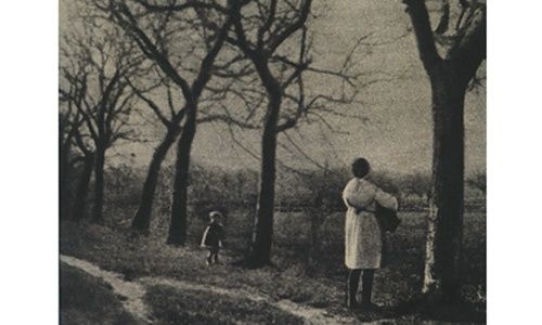
[[[2,324],[57,324],[57,2],[0,11]]]

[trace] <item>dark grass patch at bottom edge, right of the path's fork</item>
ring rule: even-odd
[[[302,321],[269,303],[201,290],[178,291],[153,286],[145,295],[159,325],[300,324]]]

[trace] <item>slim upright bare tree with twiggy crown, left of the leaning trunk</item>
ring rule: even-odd
[[[91,22],[83,26],[63,38],[60,91],[74,103],[83,121],[85,133],[76,138],[79,148],[83,151],[88,142],[92,143],[92,220],[98,222],[103,212],[105,153],[131,133],[127,125],[133,92],[127,79],[144,72],[140,68],[142,58],[133,55],[133,46],[119,41],[119,30],[99,28]]]

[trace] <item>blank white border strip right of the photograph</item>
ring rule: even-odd
[[[534,324],[542,292],[542,5],[488,2],[488,323]]]

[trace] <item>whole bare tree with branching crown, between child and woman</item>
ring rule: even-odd
[[[311,1],[251,1],[234,11],[234,36],[228,41],[241,49],[251,62],[264,89],[264,101],[246,105],[249,117],[264,105],[261,138],[261,171],[251,250],[244,261],[249,266],[270,262],[273,236],[274,190],[276,178],[278,134],[296,127],[309,113],[318,115],[317,107],[326,109],[322,101],[344,103],[346,98],[315,95],[308,99],[304,72],[330,73],[312,68],[308,54],[307,21]],[[339,76],[340,73],[335,73]],[[341,76],[343,77],[343,76]],[[344,78],[348,81],[348,78]],[[256,95],[258,98],[258,95]],[[243,102],[247,102],[243,98]],[[328,108],[328,107],[327,107]],[[321,116],[319,116],[323,122]]]

